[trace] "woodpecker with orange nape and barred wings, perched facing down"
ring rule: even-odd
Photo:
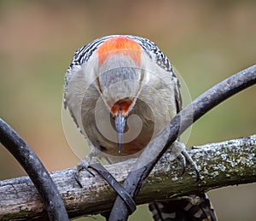
[[[65,76],[64,107],[89,142],[90,158],[100,153],[113,161],[137,157],[180,111],[182,100],[174,69],[156,44],[147,38],[111,35],[97,38],[73,55]],[[205,202],[206,196],[200,199]],[[171,209],[168,220],[192,220],[192,216],[177,219],[178,212],[187,212],[183,206],[188,207],[189,201],[182,202],[176,204],[177,213]],[[166,215],[163,208],[171,203],[150,206],[155,220],[167,220],[156,214]],[[198,205],[192,215],[201,212]],[[210,204],[205,207],[211,216],[193,220],[216,220]]]

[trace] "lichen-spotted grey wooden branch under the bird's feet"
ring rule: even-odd
[[[227,185],[256,182],[256,135],[210,143],[189,149],[200,169],[201,181],[195,182],[195,172],[170,161],[166,153],[149,175],[136,197],[137,204],[164,201],[180,195],[207,191]],[[135,160],[108,165],[106,168],[119,182],[123,182]],[[73,178],[73,169],[52,172],[70,218],[109,210],[116,194],[101,177],[81,172],[84,188]],[[29,177],[0,181],[0,219],[26,219],[44,216],[44,205]]]

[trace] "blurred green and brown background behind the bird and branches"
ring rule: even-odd
[[[255,1],[0,1],[0,117],[49,171],[73,167],[79,159],[62,130],[61,104],[64,74],[76,49],[109,34],[149,38],[195,99],[255,63],[255,24]],[[255,92],[251,87],[207,113],[193,126],[188,145],[254,134]],[[1,147],[0,179],[22,175]],[[219,220],[255,220],[255,190],[247,184],[210,191]],[[146,206],[130,220],[142,217],[150,220]]]

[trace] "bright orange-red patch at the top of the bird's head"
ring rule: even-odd
[[[99,46],[96,52],[99,55],[99,65],[102,65],[108,59],[108,56],[113,54],[130,56],[137,66],[141,64],[141,46],[125,36],[116,36],[108,39]]]

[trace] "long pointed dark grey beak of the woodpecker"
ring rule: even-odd
[[[119,111],[119,115],[114,119],[115,130],[117,131],[119,154],[122,153],[125,122],[126,122],[126,118],[122,115],[121,111]]]

